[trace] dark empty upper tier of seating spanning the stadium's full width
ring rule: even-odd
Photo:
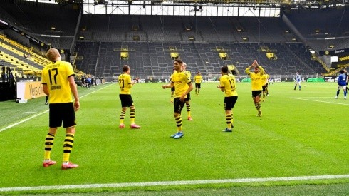
[[[348,43],[348,38],[345,41],[321,38],[349,36],[349,14],[345,6],[286,8],[280,16],[271,18],[88,14],[81,9],[76,4],[6,0],[0,5],[0,19],[49,46],[63,49],[70,49],[74,38],[81,38],[87,41],[301,41],[318,51],[328,46],[345,47]]]

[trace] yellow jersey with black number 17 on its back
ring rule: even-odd
[[[48,64],[41,73],[41,83],[48,86],[50,103],[73,102],[68,78],[75,76],[73,66],[66,61],[55,61]]]

